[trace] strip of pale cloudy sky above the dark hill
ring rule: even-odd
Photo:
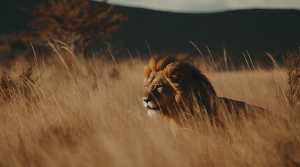
[[[300,10],[300,0],[108,0],[108,3],[187,13],[244,8],[294,8]]]

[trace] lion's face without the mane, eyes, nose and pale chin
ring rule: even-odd
[[[145,79],[145,89],[142,100],[148,109],[148,116],[152,117],[157,113],[171,115],[176,92],[170,79],[164,77],[162,71],[150,72],[149,77]]]

